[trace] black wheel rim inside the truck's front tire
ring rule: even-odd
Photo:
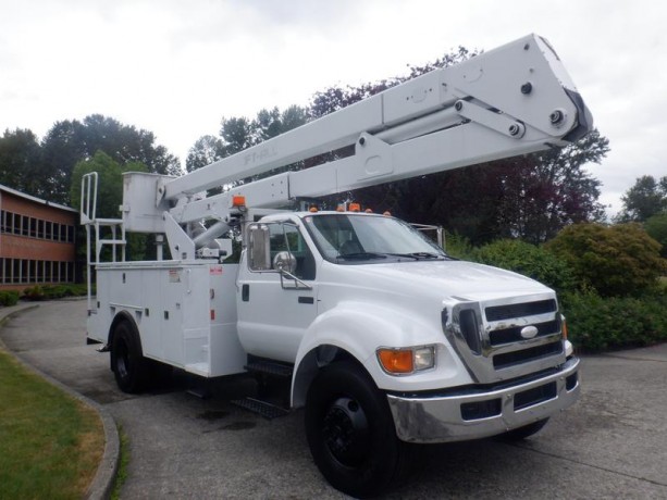
[[[354,399],[336,399],[324,414],[322,437],[331,454],[343,465],[356,467],[368,455],[370,428],[363,408]]]

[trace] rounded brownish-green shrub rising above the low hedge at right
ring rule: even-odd
[[[602,297],[642,295],[666,271],[659,243],[638,224],[573,224],[546,248],[568,263],[580,289]]]

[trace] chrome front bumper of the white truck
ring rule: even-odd
[[[579,359],[570,358],[557,373],[480,392],[453,396],[387,395],[396,435],[408,442],[465,441],[495,436],[546,418],[579,398]]]

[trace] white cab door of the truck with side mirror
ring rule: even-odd
[[[261,224],[252,234],[239,270],[238,335],[248,353],[294,362],[317,316],[316,260],[292,222]]]

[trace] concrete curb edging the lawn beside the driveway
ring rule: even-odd
[[[20,304],[12,305],[9,308],[1,308],[0,328],[2,328],[2,325],[8,322],[12,316],[24,313],[26,311],[30,311],[33,309],[37,309],[38,307],[39,304]],[[84,404],[94,409],[98,413],[100,420],[102,421],[102,426],[104,428],[104,452],[102,454],[102,460],[97,467],[97,472],[95,473],[95,477],[92,478],[92,483],[90,483],[90,486],[88,486],[88,490],[86,491],[85,498],[91,500],[108,499],[111,496],[111,489],[113,488],[113,482],[115,479],[121,459],[121,440],[119,437],[118,426],[115,424],[115,421],[113,420],[113,416],[111,416],[111,413],[109,413],[107,409],[104,409],[96,401],[86,398],[85,396],[76,392],[75,390],[65,386],[50,375],[47,375],[46,373],[37,370],[35,366],[28,364],[18,354],[8,349],[8,347],[2,342],[2,339],[0,339],[0,347],[2,347],[2,349],[12,354],[14,359],[27,370],[36,373],[50,384],[54,385],[70,396],[76,398],[77,400],[82,401]]]

